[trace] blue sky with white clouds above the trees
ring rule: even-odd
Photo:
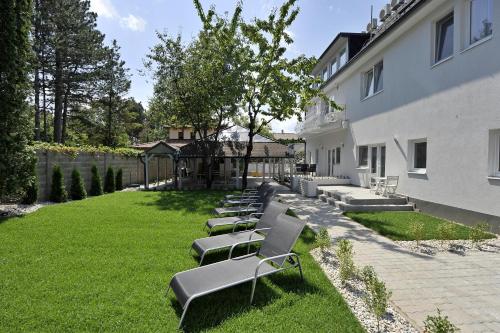
[[[289,56],[300,54],[319,57],[339,32],[361,32],[388,0],[298,0],[300,14],[289,29],[294,43]],[[234,10],[236,0],[201,0],[205,11],[214,5],[218,13]],[[283,0],[243,0],[245,20],[265,18]],[[97,26],[106,35],[106,43],[116,39],[121,55],[132,76],[129,95],[147,107],[153,82],[141,74],[143,60],[157,42],[156,32],[181,33],[184,40],[194,37],[201,28],[191,0],[91,0],[91,10],[98,14]],[[296,119],[273,122],[273,130],[294,132]]]

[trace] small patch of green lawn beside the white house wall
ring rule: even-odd
[[[368,213],[345,213],[356,222],[375,230],[379,234],[392,240],[409,241],[415,240],[410,234],[412,222],[424,223],[423,240],[439,239],[438,227],[442,224],[452,222],[438,217],[426,215],[419,212],[368,212]],[[455,237],[453,239],[468,239],[471,228],[461,224],[455,224]],[[484,234],[484,238],[495,238],[492,234]]]

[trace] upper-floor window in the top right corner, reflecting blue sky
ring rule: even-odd
[[[470,1],[470,39],[474,44],[493,33],[493,0]]]

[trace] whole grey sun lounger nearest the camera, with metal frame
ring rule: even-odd
[[[260,277],[298,267],[303,280],[299,256],[291,250],[304,226],[305,223],[295,217],[279,215],[276,225],[269,231],[257,252],[231,258],[233,249],[238,246],[234,244],[228,260],[175,274],[167,288],[167,294],[172,289],[183,308],[179,328],[182,327],[189,304],[201,296],[252,281],[252,304],[257,279]]]

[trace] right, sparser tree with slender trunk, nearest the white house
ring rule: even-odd
[[[248,117],[248,143],[244,156],[243,188],[247,186],[248,165],[252,156],[253,138],[272,120],[283,121],[301,114],[315,97],[328,98],[314,84],[318,79],[311,75],[315,58],[286,57],[287,47],[293,39],[287,29],[295,21],[299,9],[296,0],[287,0],[278,10],[273,10],[266,20],[255,19],[242,23],[246,38],[245,92],[243,110]],[[332,108],[338,105],[329,101]]]

